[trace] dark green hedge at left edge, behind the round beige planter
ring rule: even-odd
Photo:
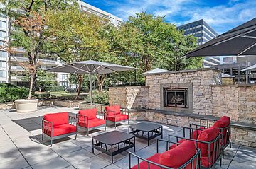
[[[20,88],[10,84],[0,84],[0,102],[14,102],[28,97],[28,88]]]

